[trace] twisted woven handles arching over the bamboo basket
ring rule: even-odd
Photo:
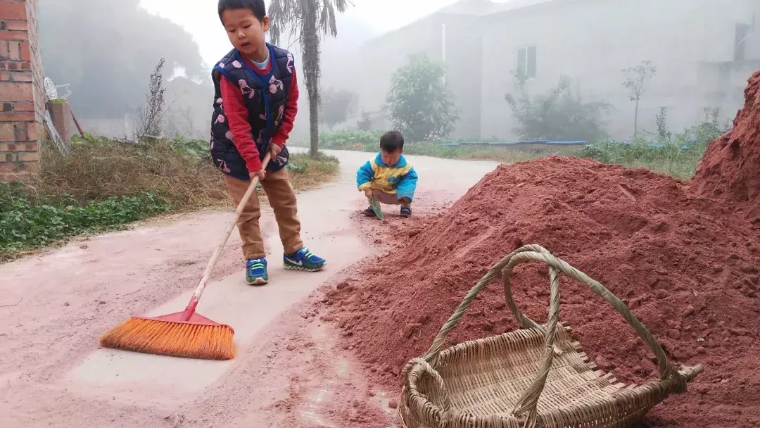
[[[610,305],[613,306],[613,308],[620,315],[622,315],[622,318],[625,319],[625,322],[627,322],[636,331],[638,337],[648,345],[652,352],[654,352],[655,357],[657,357],[657,362],[659,363],[658,369],[660,372],[660,379],[673,377],[673,379],[679,385],[679,391],[682,391],[686,388],[686,377],[679,373],[676,369],[673,369],[673,366],[671,366],[668,362],[665,351],[662,349],[662,347],[660,347],[660,344],[657,344],[657,341],[652,338],[652,335],[649,332],[648,328],[641,324],[641,321],[639,321],[639,319],[633,315],[628,306],[625,306],[625,303],[622,303],[622,301],[619,300],[617,296],[611,293],[610,290],[607,290],[602,284],[594,281],[583,272],[578,271],[571,265],[568,265],[566,262],[553,256],[543,247],[537,245],[524,246],[520,249],[516,249],[514,252],[509,253],[505,256],[505,258],[502,258],[502,260],[496,263],[496,265],[494,265],[494,267],[491,268],[486,273],[486,275],[477,282],[477,284],[475,284],[475,287],[473,287],[472,290],[467,293],[467,296],[464,297],[464,300],[454,311],[454,314],[451,315],[451,318],[449,318],[448,321],[443,325],[441,331],[439,331],[439,334],[433,340],[432,346],[426,353],[424,359],[430,363],[432,367],[438,366],[441,350],[443,344],[446,341],[446,337],[448,336],[448,332],[458,325],[459,320],[461,319],[462,315],[464,315],[464,312],[467,311],[467,308],[469,308],[470,304],[473,302],[473,300],[475,300],[475,296],[477,296],[477,294],[480,293],[480,291],[483,290],[487,284],[489,284],[496,276],[498,276],[499,272],[501,272],[502,269],[504,271],[502,280],[504,282],[505,299],[512,312],[515,314],[515,318],[518,319],[518,322],[520,322],[523,328],[543,329],[543,326],[538,325],[536,322],[529,319],[522,312],[520,312],[520,309],[518,309],[511,293],[512,271],[514,271],[517,265],[531,261],[543,262],[546,265],[549,265],[551,297],[549,307],[549,321],[546,325],[546,340],[544,341],[545,350],[543,352],[543,361],[533,384],[530,385],[530,388],[528,388],[524,395],[520,398],[518,404],[515,406],[515,410],[512,412],[515,415],[528,412],[529,414],[528,420],[526,421],[526,426],[534,426],[535,418],[537,417],[536,407],[538,404],[538,399],[540,398],[541,392],[543,392],[544,385],[546,385],[546,377],[549,374],[549,368],[551,367],[554,358],[553,348],[556,343],[556,326],[559,322],[559,277],[557,275],[559,271],[567,274],[569,277],[575,278],[575,280],[581,282],[581,284],[584,284],[593,293],[601,296],[604,300],[606,300],[607,303],[610,303]],[[528,424],[528,422],[530,422],[530,424]]]

